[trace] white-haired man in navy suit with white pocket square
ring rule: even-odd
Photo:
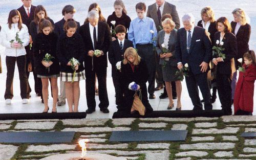
[[[195,27],[195,18],[189,13],[182,17],[184,28],[178,30],[176,43],[176,59],[179,70],[188,63],[188,77],[185,77],[189,97],[194,105],[193,110],[202,110],[198,86],[201,90],[204,109],[211,110],[207,71],[211,59],[211,42],[205,29]],[[197,86],[198,84],[198,86]]]

